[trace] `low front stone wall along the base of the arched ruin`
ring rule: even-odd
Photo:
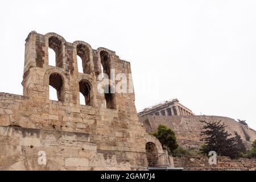
[[[1,126],[0,135],[0,170],[130,170],[146,163],[139,153],[98,150],[86,133]],[[38,164],[39,151],[46,165]]]

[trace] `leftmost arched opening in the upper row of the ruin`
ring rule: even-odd
[[[48,45],[49,45],[49,48],[53,49],[53,51],[55,52],[55,64],[52,63],[53,58],[51,57],[51,63],[49,63],[49,65],[54,64],[56,67],[63,68],[63,47],[62,47],[61,40],[59,40],[55,36],[51,36],[48,39]],[[48,60],[49,60],[49,50],[48,50]]]

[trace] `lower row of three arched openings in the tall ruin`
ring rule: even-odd
[[[60,73],[51,73],[49,75],[49,100],[65,101],[65,82]],[[105,107],[108,109],[115,109],[114,93],[110,92],[110,85],[105,85]],[[82,79],[79,81],[79,98],[81,105],[92,106],[92,85],[88,80]]]

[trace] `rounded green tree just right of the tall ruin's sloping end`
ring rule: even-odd
[[[158,130],[151,134],[158,138],[163,148],[167,148],[170,152],[173,152],[177,147],[179,147],[174,131],[167,126],[159,125]]]

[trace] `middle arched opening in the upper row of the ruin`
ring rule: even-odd
[[[84,44],[78,44],[76,47],[77,57],[77,68],[80,73],[90,74],[90,49]]]

